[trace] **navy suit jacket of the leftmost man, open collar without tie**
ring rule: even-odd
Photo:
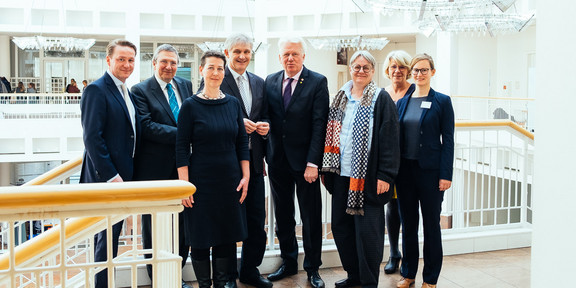
[[[117,174],[124,181],[133,180],[132,156],[136,137],[140,137],[140,120],[136,111],[135,133],[124,97],[107,72],[86,87],[80,110],[85,147],[80,183],[106,182]]]

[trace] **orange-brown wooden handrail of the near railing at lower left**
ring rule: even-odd
[[[137,181],[123,183],[91,183],[74,185],[44,185],[0,187],[0,215],[14,214],[15,211],[34,210],[42,207],[45,211],[62,211],[66,208],[125,206],[128,202],[162,202],[189,197],[196,187],[187,181]],[[65,237],[70,238],[105,217],[72,218],[64,225]],[[62,225],[42,233],[34,239],[15,247],[15,264],[19,265],[36,255],[41,255],[58,245]],[[9,268],[10,253],[0,255],[0,270]]]

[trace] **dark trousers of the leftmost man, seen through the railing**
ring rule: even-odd
[[[122,233],[122,224],[124,220],[112,225],[112,256],[118,255],[118,239]],[[107,229],[94,235],[94,261],[106,262],[108,260],[108,244],[106,243]],[[108,269],[104,269],[96,274],[94,277],[96,288],[108,287]]]

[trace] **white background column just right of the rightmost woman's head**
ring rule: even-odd
[[[458,83],[458,49],[456,39],[458,36],[450,32],[437,32],[436,55],[434,58],[436,76],[432,78],[432,88],[444,94],[456,92],[455,85]],[[425,52],[425,51],[424,51]]]

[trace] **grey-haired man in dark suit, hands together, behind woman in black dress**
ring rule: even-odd
[[[272,287],[272,282],[262,277],[258,266],[266,250],[266,207],[264,197],[264,153],[265,138],[268,135],[268,119],[263,114],[264,79],[246,71],[252,59],[252,40],[244,34],[234,34],[224,43],[224,54],[228,66],[220,90],[232,95],[242,103],[244,127],[249,137],[250,148],[250,184],[244,205],[246,205],[246,224],[248,238],[242,242],[240,260],[240,282],[258,288]],[[203,88],[204,82],[200,84]],[[236,261],[231,263],[230,282],[226,287],[236,287],[238,272]]]

